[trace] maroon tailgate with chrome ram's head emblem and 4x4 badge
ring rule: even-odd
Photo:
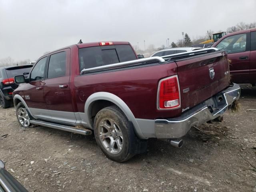
[[[226,52],[176,60],[182,112],[203,102],[229,85]]]

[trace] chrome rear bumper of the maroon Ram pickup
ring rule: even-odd
[[[188,110],[179,118],[156,119],[156,138],[180,138],[194,125],[200,125],[223,114],[228,106],[240,97],[240,86],[233,84],[202,104]],[[211,105],[210,105],[211,104]],[[214,106],[214,109],[208,106]]]

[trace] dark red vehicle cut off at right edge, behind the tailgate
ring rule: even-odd
[[[232,82],[256,84],[256,28],[230,33],[213,47],[228,53]]]

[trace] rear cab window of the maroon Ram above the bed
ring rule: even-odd
[[[80,72],[83,69],[136,60],[130,45],[95,46],[79,49]]]

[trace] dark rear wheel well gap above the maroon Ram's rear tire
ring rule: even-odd
[[[109,107],[112,105],[117,106],[116,104],[114,104],[113,102],[108,101],[108,100],[97,100],[90,105],[89,120],[90,120],[90,125],[92,126],[92,128],[94,127],[94,118],[95,118],[96,114],[103,108]]]

